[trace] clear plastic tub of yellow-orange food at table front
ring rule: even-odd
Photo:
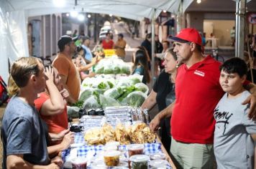
[[[116,150],[109,150],[104,153],[104,162],[108,166],[116,166],[119,164],[119,157],[121,152]]]

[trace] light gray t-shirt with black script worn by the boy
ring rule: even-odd
[[[214,110],[214,154],[218,168],[252,168],[255,145],[251,134],[256,122],[249,120],[248,105],[242,102],[250,95],[244,91],[237,98],[221,98]]]

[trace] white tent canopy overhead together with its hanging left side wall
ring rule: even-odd
[[[0,74],[6,80],[9,62],[18,57],[28,57],[27,18],[45,14],[83,11],[113,14],[128,19],[142,20],[158,16],[161,11],[177,13],[180,4],[183,11],[193,0],[65,0],[63,7],[53,1],[60,0],[1,0],[0,4]],[[181,3],[183,1],[183,3]],[[77,2],[77,3],[76,3]],[[76,5],[75,5],[76,4]],[[154,13],[155,12],[155,13]]]

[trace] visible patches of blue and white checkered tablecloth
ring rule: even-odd
[[[94,150],[95,155],[104,150],[104,145],[86,145],[86,142],[83,138],[83,133],[77,132],[75,134],[75,143],[83,143],[84,145],[77,148],[78,157],[86,157],[88,151]],[[145,154],[153,154],[162,152],[161,143],[146,143]],[[63,161],[65,162],[70,157],[70,148],[64,150],[62,153]],[[127,145],[119,145],[119,150],[127,150]],[[162,152],[163,153],[163,152]]]

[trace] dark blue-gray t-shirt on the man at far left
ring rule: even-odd
[[[23,155],[24,160],[35,165],[48,165],[45,131],[35,107],[12,97],[4,112],[1,126],[4,145],[3,168],[7,155]]]

